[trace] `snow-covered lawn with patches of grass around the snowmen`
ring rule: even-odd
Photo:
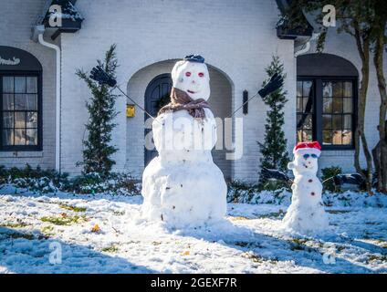
[[[387,273],[385,196],[333,202],[329,233],[300,236],[280,229],[286,204],[229,203],[223,223],[169,230],[141,220],[141,196],[1,192],[1,273]]]

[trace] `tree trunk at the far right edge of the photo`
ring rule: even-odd
[[[385,24],[384,24],[385,25]],[[382,26],[384,27],[384,26]],[[384,53],[384,29],[380,29],[375,41],[373,63],[378,78],[378,88],[381,95],[381,106],[379,111],[379,151],[375,151],[374,161],[378,163],[378,191],[387,193],[387,135],[386,135],[386,112],[387,112],[387,91],[383,72]]]

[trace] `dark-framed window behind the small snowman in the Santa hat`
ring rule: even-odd
[[[298,78],[297,140],[353,148],[355,78]]]

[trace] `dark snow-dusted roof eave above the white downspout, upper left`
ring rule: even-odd
[[[51,0],[47,1],[45,6],[44,17],[42,17],[41,24],[46,28],[54,29],[51,36],[52,39],[56,39],[61,33],[75,33],[82,27],[83,17],[79,14],[75,4],[77,0]],[[50,26],[49,19],[53,15],[48,11],[50,5],[60,5],[62,12],[57,17],[62,18],[62,26]]]

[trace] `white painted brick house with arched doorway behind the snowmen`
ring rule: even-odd
[[[83,21],[75,19],[61,29],[49,27],[44,16],[55,3],[75,5]],[[279,9],[286,3],[193,0],[187,5],[182,0],[1,0],[0,57],[4,61],[0,62],[0,165],[21,167],[29,163],[71,174],[81,171],[76,162],[82,159],[82,139],[86,137],[85,100],[89,98],[89,89],[75,72],[77,68],[94,67],[96,59],[102,58],[115,43],[120,88],[145,108],[152,98],[150,89],[161,89],[162,84],[168,83],[168,73],[177,59],[193,53],[204,56],[210,68],[209,101],[220,118],[229,116],[242,104],[245,90],[249,97],[256,94],[267,78],[264,69],[277,54],[287,72],[284,130],[288,150],[296,143],[298,130],[303,130],[304,139],[323,144],[321,167],[339,165],[344,171],[353,171],[351,133],[356,121],[361,68],[355,44],[351,36],[338,35],[331,29],[323,55],[312,55],[315,43],[311,41],[309,51],[295,57],[302,42],[311,35],[277,35]],[[42,24],[45,29],[37,26]],[[66,29],[69,26],[72,29]],[[43,36],[40,42],[39,33]],[[57,50],[47,47],[47,42],[57,46]],[[10,64],[13,57],[20,62]],[[23,67],[28,64],[30,68]],[[375,113],[380,103],[373,67],[368,94],[366,133],[373,147],[378,141]],[[305,110],[308,100],[313,104],[313,114]],[[120,114],[113,140],[119,151],[115,168],[140,178],[147,162],[144,114],[136,109],[135,116],[128,118],[127,102],[124,97],[117,100]],[[243,132],[239,133],[243,134],[242,157],[226,160],[228,151],[214,151],[214,161],[225,177],[256,180],[260,158],[257,141],[264,137],[266,110],[261,99],[252,99],[248,113],[237,112],[236,117],[243,118]],[[298,117],[308,114],[310,125],[308,120],[299,121]]]

